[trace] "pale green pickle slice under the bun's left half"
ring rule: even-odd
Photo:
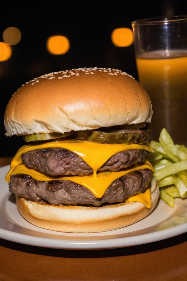
[[[68,137],[70,135],[74,135],[74,132],[65,132],[65,133],[41,133],[41,134],[31,134],[25,135],[24,140],[26,142],[30,141],[40,141],[40,140],[50,140],[50,139],[58,139],[63,137]]]

